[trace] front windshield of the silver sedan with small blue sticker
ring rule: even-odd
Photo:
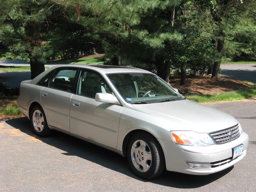
[[[147,104],[183,100],[178,92],[154,74],[109,74],[108,78],[128,103]]]

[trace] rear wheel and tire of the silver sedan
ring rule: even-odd
[[[44,110],[41,108],[41,106],[36,105],[33,107],[29,118],[32,131],[37,136],[46,137],[52,133],[52,130],[48,127]]]

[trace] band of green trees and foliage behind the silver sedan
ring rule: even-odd
[[[255,57],[255,0],[0,0],[0,54],[29,60],[105,53],[105,63],[169,75],[212,74]],[[217,74],[216,74],[217,73]]]

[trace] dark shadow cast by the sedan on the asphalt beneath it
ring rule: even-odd
[[[109,151],[89,142],[77,139],[75,137],[57,131],[54,131],[53,134],[49,137],[38,137],[32,132],[30,128],[30,122],[26,117],[6,120],[5,122],[11,125],[13,128],[19,129],[21,132],[26,133],[31,137],[34,137],[50,146],[65,151],[62,153],[65,156],[77,156],[85,160],[91,161],[92,163],[99,164],[113,171],[125,174],[128,177],[132,177],[143,182],[151,182],[167,187],[202,187],[220,179],[228,172],[230,172],[234,167],[232,166],[224,171],[205,176],[188,175],[183,173],[165,171],[163,174],[155,179],[143,180],[135,176],[131,172],[126,158],[118,155],[115,152]]]

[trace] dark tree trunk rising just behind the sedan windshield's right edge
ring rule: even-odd
[[[159,59],[157,63],[157,76],[162,78],[169,84],[171,62],[167,60]]]

